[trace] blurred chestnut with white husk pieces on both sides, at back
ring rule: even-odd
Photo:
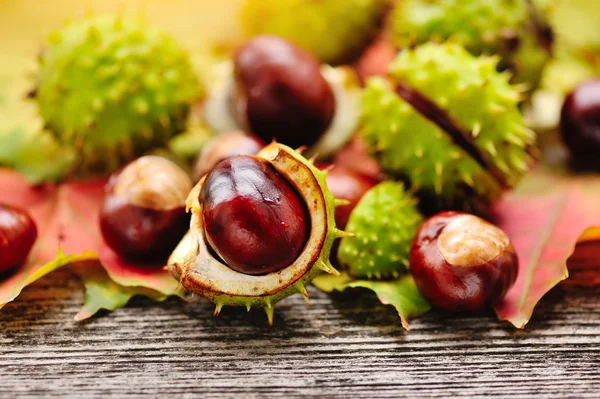
[[[223,66],[221,66],[223,67]],[[348,67],[332,68],[277,36],[257,36],[235,54],[205,103],[215,131],[248,130],[326,157],[354,134],[360,83]]]

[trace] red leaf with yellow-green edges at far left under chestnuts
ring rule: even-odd
[[[18,173],[0,170],[0,187],[3,188],[0,202],[29,211],[38,228],[38,240],[27,264],[15,275],[0,281],[0,303],[13,300],[23,287],[60,266],[99,256],[113,280],[97,279],[107,284],[103,288],[105,294],[121,287],[127,295],[142,293],[153,298],[182,295],[177,281],[162,267],[126,263],[106,246],[97,220],[104,184],[105,179],[97,179],[31,186]],[[97,286],[88,296],[102,292]],[[124,289],[126,287],[131,289]],[[116,304],[126,303],[123,298],[103,308],[114,309]],[[105,300],[90,298],[90,302]]]

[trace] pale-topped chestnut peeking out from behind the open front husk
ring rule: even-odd
[[[194,164],[194,181],[199,181],[216,164],[235,155],[254,155],[265,143],[253,134],[244,132],[222,133],[206,143]]]

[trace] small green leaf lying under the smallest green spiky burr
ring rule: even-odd
[[[384,305],[396,308],[402,327],[407,331],[408,320],[420,316],[431,308],[423,299],[411,275],[393,281],[354,280],[347,273],[339,276],[320,275],[313,280],[315,287],[324,292],[344,291],[347,288],[366,288],[373,291]]]

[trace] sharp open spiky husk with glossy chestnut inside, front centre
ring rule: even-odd
[[[189,292],[216,304],[273,305],[299,292],[323,271],[337,273],[331,246],[335,200],[326,172],[300,153],[272,143],[255,156],[219,163],[192,189],[190,231],[168,269]]]

